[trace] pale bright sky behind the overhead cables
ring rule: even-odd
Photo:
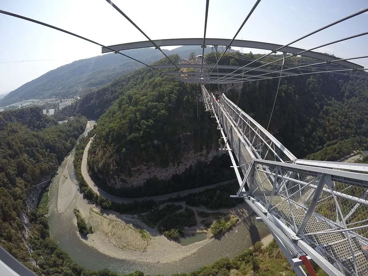
[[[114,3],[152,39],[203,36],[205,0],[114,0]],[[254,3],[255,0],[210,0],[207,37],[232,38]],[[367,0],[262,0],[237,39],[285,45],[367,7]],[[0,9],[58,26],[104,45],[146,40],[105,0],[1,0]],[[368,13],[291,46],[309,49],[366,31]],[[368,36],[363,36],[317,51],[343,58],[357,57],[368,55],[367,45]],[[266,51],[252,49],[252,52]],[[0,14],[0,94],[59,66],[100,53],[100,47],[92,43]],[[355,62],[368,67],[368,59]]]

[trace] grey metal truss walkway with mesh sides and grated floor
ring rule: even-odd
[[[367,165],[297,159],[225,95],[201,88],[240,186],[232,197],[263,220],[297,275],[301,255],[328,275],[368,275],[368,174],[352,172]]]

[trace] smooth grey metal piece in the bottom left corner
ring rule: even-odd
[[[0,246],[1,276],[37,276]]]

